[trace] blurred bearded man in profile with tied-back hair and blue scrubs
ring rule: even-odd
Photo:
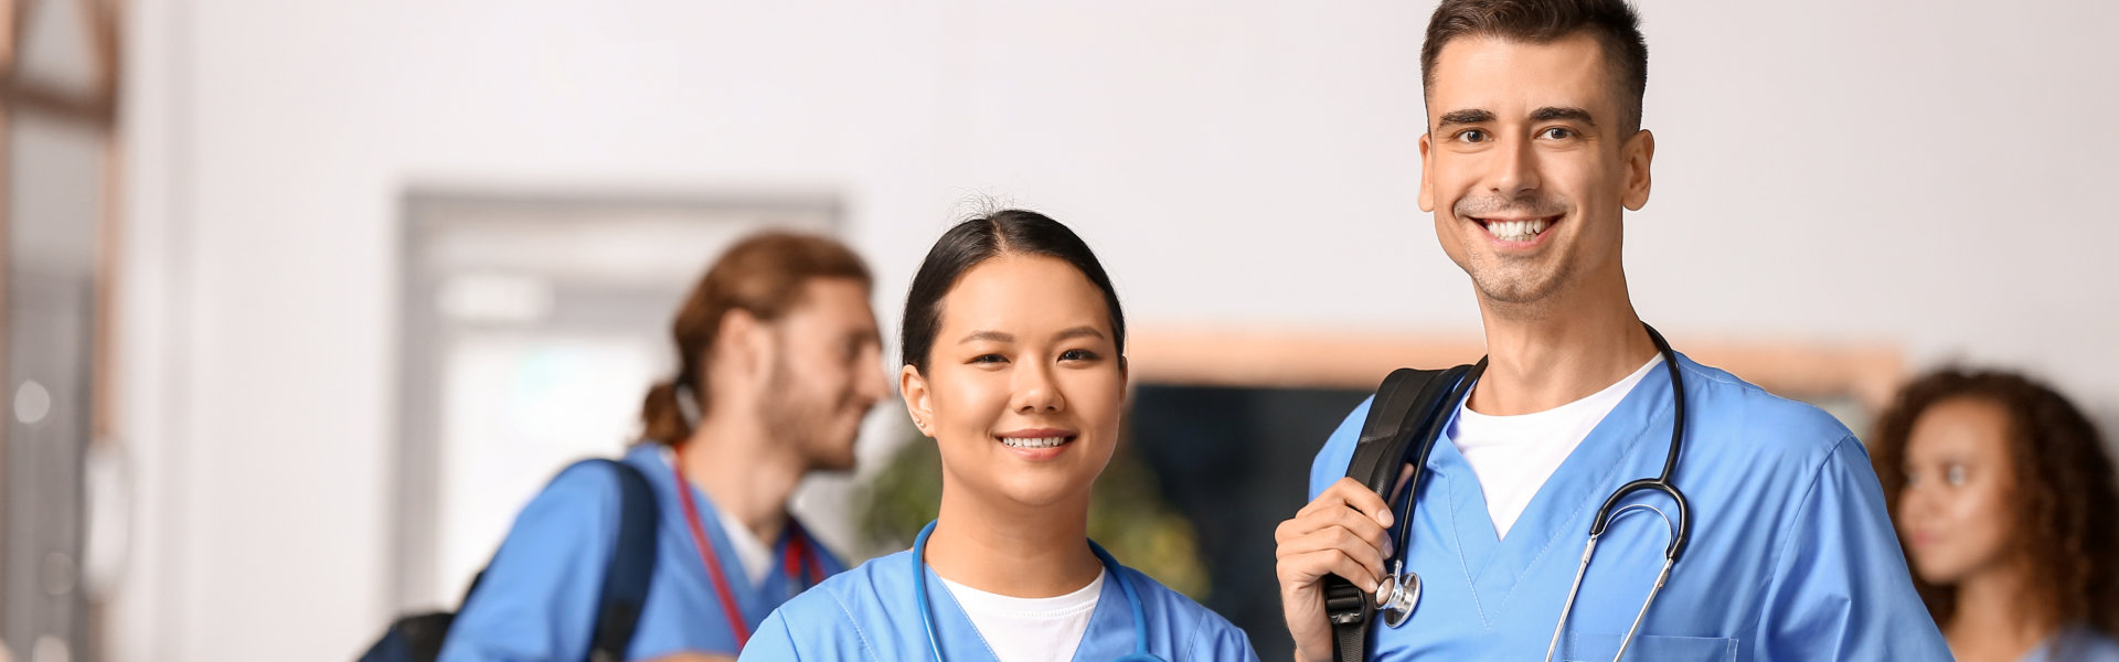
[[[786,511],[809,471],[854,467],[886,395],[869,269],[839,242],[752,236],[672,323],[676,378],[623,463],[655,492],[655,569],[625,660],[731,660],[780,603],[845,567]],[[441,660],[585,660],[617,547],[612,467],[576,465],[523,507]]]

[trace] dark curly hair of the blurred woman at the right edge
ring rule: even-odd
[[[2030,558],[2030,605],[2058,624],[2119,632],[2119,490],[2096,424],[2066,397],[2019,373],[1943,369],[1907,384],[1877,422],[1869,450],[1890,511],[1905,490],[1905,446],[1920,414],[1943,401],[1975,399],[2009,414],[2009,460],[2017,505],[2011,533]],[[1901,539],[1901,545],[1905,541]],[[1911,562],[1911,558],[1907,558]],[[1958,609],[1952,586],[1913,575],[1937,624]]]

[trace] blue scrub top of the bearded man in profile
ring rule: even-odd
[[[676,492],[678,482],[663,460],[661,446],[642,443],[627,452],[623,463],[648,480],[661,520],[655,528],[648,600],[625,658],[646,660],[680,651],[735,656],[735,634],[699,560],[699,545],[693,543]],[[801,592],[807,581],[790,577],[780,564],[795,526],[788,526],[773,545],[776,569],[763,583],[752,583],[714,520],[718,509],[710,507],[712,501],[697,486],[687,482],[684,488],[699,503],[701,528],[714,545],[723,577],[729,577],[744,626],[756,632],[765,615]],[[515,528],[500,543],[479,588],[449,626],[441,660],[587,658],[604,564],[617,547],[617,528],[619,484],[610,469],[587,465],[562,471],[515,518]],[[845,571],[845,564],[814,539],[809,550],[824,575]]]

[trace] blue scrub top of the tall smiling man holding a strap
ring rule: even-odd
[[[1691,541],[1627,660],[1949,660],[1860,441],[1829,414],[1727,371],[1682,354],[1678,369],[1687,429],[1674,482],[1691,503]],[[1312,499],[1346,475],[1367,416],[1363,403],[1324,441]],[[1439,439],[1411,550],[1401,552],[1424,594],[1403,628],[1373,628],[1371,660],[1543,660],[1589,520],[1621,484],[1661,473],[1670,424],[1670,376],[1655,369],[1553,471],[1507,539],[1494,535],[1471,465]],[[1627,503],[1678,516],[1663,494]],[[1653,511],[1613,520],[1560,658],[1617,654],[1663,567],[1668,530]]]

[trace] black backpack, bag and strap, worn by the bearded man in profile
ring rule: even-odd
[[[625,660],[625,647],[634,641],[634,626],[640,624],[640,607],[648,598],[648,577],[655,573],[655,490],[638,469],[617,460],[581,460],[581,465],[608,465],[619,480],[619,545],[604,567],[604,592],[595,609],[595,634],[589,641],[591,662]],[[568,469],[574,469],[568,467]],[[564,473],[564,471],[562,471]],[[464,592],[464,600],[479,590],[485,579],[481,571]],[[403,615],[390,624],[381,641],[375,641],[360,662],[432,662],[441,658],[441,643],[449,637],[451,611]]]

